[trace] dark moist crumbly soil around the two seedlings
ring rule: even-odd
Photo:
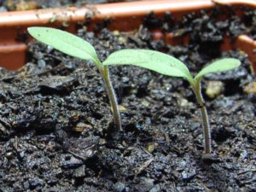
[[[146,27],[152,16],[137,32],[81,28],[78,35],[94,44],[102,60],[116,49],[158,49],[187,63],[193,74],[218,57],[240,59],[238,69],[202,81],[212,157],[201,158],[201,117],[187,81],[110,67],[124,128],[113,133],[96,67],[35,43],[19,72],[0,71],[0,191],[255,191],[256,97],[244,91],[254,75],[247,55],[218,49],[236,20],[193,18],[179,24],[189,20],[180,28],[189,28],[191,36],[184,46],[152,41]],[[168,31],[171,25],[162,23]],[[208,85],[220,80],[219,95],[208,97]]]

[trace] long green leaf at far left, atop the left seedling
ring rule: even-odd
[[[67,55],[72,55],[82,60],[94,61],[96,65],[101,65],[96,55],[96,50],[92,45],[69,32],[49,27],[29,27],[27,31],[33,38]]]

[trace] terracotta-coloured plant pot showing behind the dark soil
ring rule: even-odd
[[[255,7],[254,1],[216,1],[218,4],[231,6],[247,5]],[[63,9],[39,9],[32,11],[7,12],[0,14],[0,64],[11,70],[22,67],[26,62],[26,44],[20,41],[20,35],[26,33],[28,26],[61,26],[74,32],[77,22],[83,22],[88,15],[92,20],[90,28],[102,20],[112,20],[108,25],[111,30],[131,31],[137,28],[145,15],[154,11],[154,15],[162,17],[166,11],[171,11],[178,20],[182,15],[201,9],[212,9],[215,6],[210,0],[193,1],[142,1],[131,3],[111,3],[88,5],[84,8],[63,8]],[[157,38],[165,38],[172,42],[172,33],[156,34]],[[249,55],[253,68],[256,67],[255,41],[244,35],[236,41],[227,38],[224,41],[224,49],[241,49]]]

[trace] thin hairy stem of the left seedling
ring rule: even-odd
[[[114,94],[113,85],[111,84],[111,81],[109,79],[109,72],[108,72],[108,66],[104,66],[100,68],[100,72],[102,74],[102,79],[104,80],[106,84],[106,89],[108,92],[108,98],[111,104],[111,108],[113,111],[113,120],[115,129],[117,131],[122,131],[122,125],[121,125],[121,117],[119,113],[119,106],[116,99],[116,96]]]

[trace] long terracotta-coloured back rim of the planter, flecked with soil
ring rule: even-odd
[[[82,8],[63,7],[54,9],[36,9],[0,13],[0,28],[9,26],[47,25],[55,21],[77,22],[84,20],[86,15],[92,15],[95,20],[112,17],[128,17],[146,15],[151,11],[162,14],[166,11],[187,11],[209,9],[214,5],[211,0],[159,0],[136,1],[125,3],[107,3],[86,5]]]

